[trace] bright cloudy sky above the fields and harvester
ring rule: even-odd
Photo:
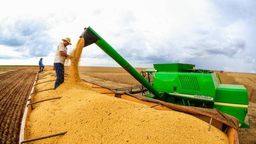
[[[53,65],[62,38],[71,50],[91,26],[134,67],[192,63],[198,69],[256,72],[256,1],[3,0],[0,65]],[[80,65],[119,65],[95,44]]]

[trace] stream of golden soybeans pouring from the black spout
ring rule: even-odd
[[[85,44],[85,39],[81,37],[76,44],[76,48],[70,54],[72,57],[71,66],[69,69],[71,81],[75,81],[75,82],[81,81],[79,70],[78,70],[78,64],[81,59],[81,54],[82,54],[84,44]]]

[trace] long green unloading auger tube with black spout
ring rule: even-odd
[[[154,96],[162,101],[165,100],[164,93],[159,93],[140,73],[135,70],[130,63],[128,63],[119,53],[112,48],[99,34],[97,34],[92,27],[85,27],[84,32],[81,34],[80,38],[83,37],[85,39],[85,46],[91,45],[95,43],[99,46],[107,55],[113,58],[121,67],[123,67],[129,74],[131,74],[138,82],[140,82],[143,86],[145,86]]]

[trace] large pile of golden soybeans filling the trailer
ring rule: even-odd
[[[47,71],[47,79],[54,71]],[[67,78],[65,78],[67,79]],[[48,89],[45,82],[36,89]],[[33,101],[62,96],[33,105],[28,139],[67,131],[35,143],[228,143],[219,129],[191,115],[160,111],[147,105],[100,94],[83,82],[65,81],[55,91],[36,93]]]

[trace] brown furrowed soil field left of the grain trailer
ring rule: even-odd
[[[24,108],[38,67],[0,67],[0,143],[18,143]]]

